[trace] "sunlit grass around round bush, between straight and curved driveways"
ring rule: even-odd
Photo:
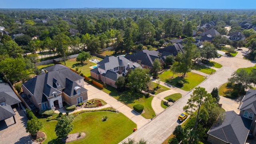
[[[151,102],[152,102],[153,98],[154,98],[154,96],[150,96],[149,98],[145,98],[143,96],[139,99],[134,100],[133,103],[126,104],[126,105],[133,109],[133,106],[135,104],[142,104],[144,106],[144,111],[145,112],[140,114],[140,115],[143,116],[146,119],[150,119],[150,118],[152,118],[152,115],[154,115],[154,116],[156,115],[152,106],[151,106]]]

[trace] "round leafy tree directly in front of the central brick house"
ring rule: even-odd
[[[128,86],[135,92],[140,92],[142,89],[146,88],[148,82],[150,82],[148,74],[149,70],[135,68],[127,76]]]

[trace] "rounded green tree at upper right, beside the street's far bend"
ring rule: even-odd
[[[216,58],[218,52],[217,49],[214,47],[213,44],[209,42],[204,43],[204,47],[201,50],[201,56],[202,58],[205,58],[206,60],[211,58]]]

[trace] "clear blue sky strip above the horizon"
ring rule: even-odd
[[[0,8],[256,9],[256,0],[1,0]]]

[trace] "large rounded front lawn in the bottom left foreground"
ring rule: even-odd
[[[103,116],[108,116],[108,120],[102,122]],[[46,122],[45,118],[40,121],[43,122],[42,131],[47,135],[44,144],[62,144],[54,132],[57,121]],[[85,132],[86,136],[69,144],[117,144],[136,128],[136,124],[124,114],[107,111],[84,112],[76,116],[72,124],[74,129],[70,134]]]

